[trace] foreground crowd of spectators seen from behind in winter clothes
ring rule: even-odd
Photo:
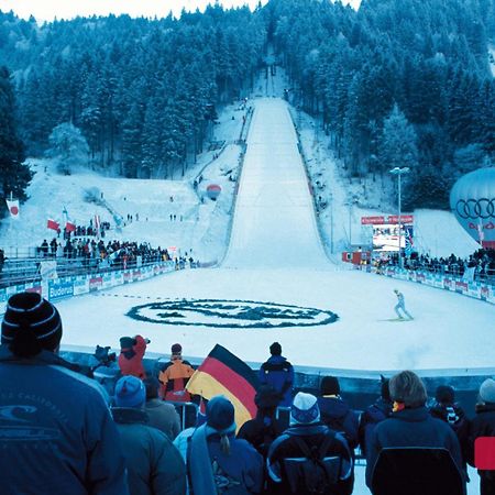
[[[122,338],[122,376],[109,398],[58,356],[61,339],[53,304],[35,293],[9,299],[0,345],[6,493],[350,495],[361,453],[374,495],[463,495],[475,440],[495,438],[492,378],[471,419],[451,386],[439,386],[429,402],[410,371],[382,377],[377,400],[354,411],[334,376],[322,377],[316,394],[295,393],[277,342],[260,370],[253,419],[235,425],[238,402],[220,395],[185,429],[175,405],[189,400],[183,393],[193,369],[179,344],[154,376],[142,366],[148,341]],[[493,471],[479,473],[481,495],[493,494]]]

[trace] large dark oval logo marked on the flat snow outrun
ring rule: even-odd
[[[328,310],[255,300],[182,299],[134,306],[128,316],[161,324],[212,328],[315,327],[333,323]]]

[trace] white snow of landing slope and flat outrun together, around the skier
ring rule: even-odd
[[[493,353],[486,345],[493,330],[493,306],[453,293],[349,271],[322,255],[294,129],[286,114],[282,100],[256,101],[232,243],[223,265],[62,301],[65,342],[116,345],[119,337],[140,332],[151,338],[150,351],[166,353],[172,343],[180,341],[185,352],[196,356],[221,343],[246,361],[260,362],[268,345],[278,340],[284,352],[299,365],[354,370],[493,365]],[[276,133],[271,130],[274,119]],[[262,145],[263,135],[270,136],[270,145]],[[275,165],[279,163],[286,164],[285,169]],[[274,170],[280,175],[279,182],[273,180]],[[414,321],[389,321],[395,316],[395,287],[405,294],[416,317]],[[207,304],[223,305],[222,311],[230,311],[230,316],[242,306],[240,301],[260,301],[330,310],[340,319],[330,324],[288,328],[208,327],[201,324],[211,322],[205,308],[187,308],[190,301],[206,299],[212,300]],[[172,316],[167,308],[153,309],[156,317],[151,319],[167,318],[169,324],[136,321],[127,316],[134,306],[154,301],[180,301],[182,307],[173,309]],[[229,304],[230,310],[226,310],[224,305]],[[145,311],[148,310],[141,312]],[[213,308],[215,311],[219,315],[220,310]],[[146,315],[150,319],[150,312]],[[318,315],[315,311],[311,318],[318,320]],[[103,323],[108,321],[112,323]],[[189,326],[191,321],[200,324]],[[216,322],[222,321],[226,316],[218,316]],[[251,322],[244,318],[237,324]]]

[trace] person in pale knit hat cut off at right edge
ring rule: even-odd
[[[479,437],[495,437],[495,381],[485,380],[480,387],[476,415],[471,420],[468,437],[466,458],[474,466],[474,442]],[[495,471],[477,471],[480,474],[480,494],[495,494]]]

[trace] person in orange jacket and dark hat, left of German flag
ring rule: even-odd
[[[158,375],[163,385],[164,399],[176,403],[190,402],[190,394],[186,391],[186,385],[194,372],[193,366],[183,360],[183,346],[178,343],[172,345],[170,361]]]

